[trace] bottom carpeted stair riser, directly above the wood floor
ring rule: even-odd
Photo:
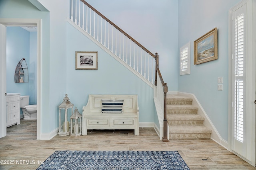
[[[178,140],[178,139],[210,139],[211,138],[211,134],[186,134],[186,133],[182,133],[182,134],[173,134],[173,133],[169,133],[169,139],[170,140]]]

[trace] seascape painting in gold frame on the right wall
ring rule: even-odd
[[[194,41],[194,64],[218,59],[217,28]]]

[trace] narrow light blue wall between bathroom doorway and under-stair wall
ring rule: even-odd
[[[46,71],[48,74],[47,80],[42,80],[42,86],[46,84],[47,87],[42,89],[42,94],[44,94],[42,96],[42,106],[46,106],[48,109],[47,115],[42,116],[42,132],[49,133],[59,127],[58,106],[67,93],[66,17],[69,15],[69,1],[38,0],[38,2],[50,11],[48,25],[50,30],[48,34],[50,55],[48,58],[42,56],[42,71]],[[44,36],[42,36],[42,39],[44,39]]]

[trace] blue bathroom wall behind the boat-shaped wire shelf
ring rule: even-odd
[[[29,95],[28,83],[15,83],[14,72],[17,64],[23,58],[29,68],[29,32],[21,27],[6,28],[6,92]]]

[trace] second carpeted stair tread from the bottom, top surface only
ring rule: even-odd
[[[204,121],[204,117],[192,114],[168,114],[168,121]]]

